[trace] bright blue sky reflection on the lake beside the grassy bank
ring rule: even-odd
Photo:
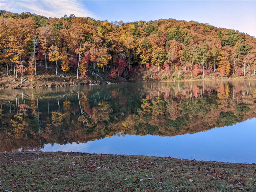
[[[47,144],[41,151],[171,156],[231,163],[256,163],[256,118],[233,126],[176,136],[125,135],[87,143]]]

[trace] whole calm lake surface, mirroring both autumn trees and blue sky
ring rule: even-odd
[[[256,81],[4,90],[1,151],[256,163]]]

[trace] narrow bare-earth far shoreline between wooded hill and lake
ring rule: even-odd
[[[129,81],[129,82],[115,82],[115,84],[121,84],[121,83],[140,83],[140,82],[198,82],[198,81],[242,81],[242,80],[256,80],[256,78],[246,78],[246,79],[182,79],[182,80],[161,80],[161,81]],[[17,81],[18,82],[18,81]],[[51,84],[51,82],[48,84],[43,84],[43,85],[39,85],[39,86],[29,86],[28,84],[26,85],[26,82],[23,84],[23,87],[17,87],[15,89],[33,89],[33,88],[56,88],[56,87],[77,87],[77,86],[94,86],[94,85],[104,85],[106,83],[99,83],[99,82],[95,82],[95,83],[81,83],[81,84],[67,84],[67,82],[58,82],[57,84]],[[25,86],[24,86],[25,85]],[[0,90],[10,90],[10,89],[14,89],[14,88],[3,88],[0,87]]]

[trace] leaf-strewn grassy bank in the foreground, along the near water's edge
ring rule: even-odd
[[[256,191],[256,165],[137,155],[1,152],[1,191]]]

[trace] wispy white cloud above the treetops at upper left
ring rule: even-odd
[[[74,14],[80,17],[97,17],[78,0],[1,0],[0,8],[13,13],[30,12],[46,17],[63,17]]]

